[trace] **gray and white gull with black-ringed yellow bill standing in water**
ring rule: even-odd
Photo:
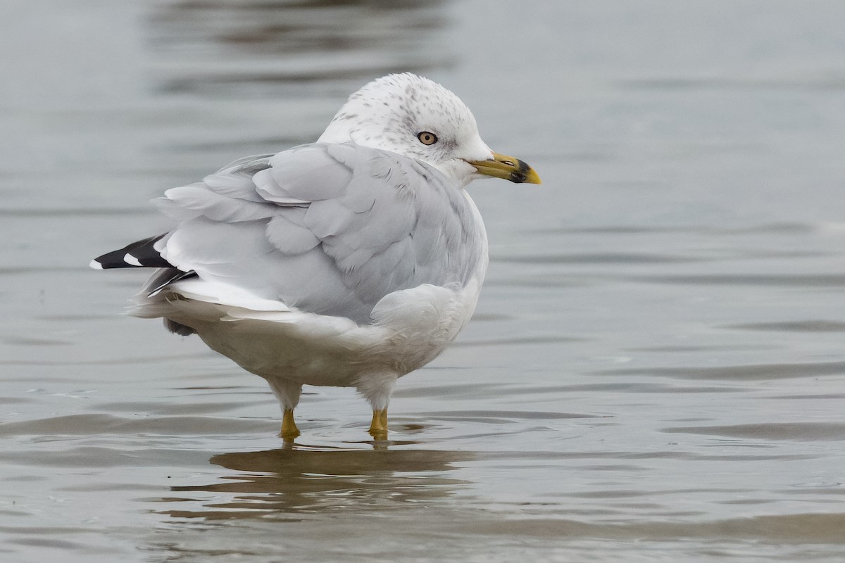
[[[154,200],[168,232],[92,268],[155,268],[129,311],[197,334],[263,377],[282,410],[303,385],[355,387],[387,438],[396,380],[472,317],[488,266],[478,178],[540,183],[494,153],[452,92],[412,73],[349,97],[316,143],[235,160]]]

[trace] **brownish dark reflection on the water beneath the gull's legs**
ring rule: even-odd
[[[415,442],[373,443],[376,449],[294,445],[262,452],[221,453],[210,463],[235,474],[209,485],[174,486],[175,493],[214,493],[214,500],[180,495],[166,502],[200,502],[189,510],[166,510],[171,517],[210,520],[308,513],[419,507],[454,494],[469,482],[453,479],[453,463],[475,459],[473,452],[393,449]],[[221,496],[231,495],[221,501]]]

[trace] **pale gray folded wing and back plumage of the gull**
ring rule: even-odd
[[[484,259],[483,225],[461,188],[353,143],[238,160],[159,202],[180,221],[156,242],[168,263],[360,323],[393,291],[466,284]]]

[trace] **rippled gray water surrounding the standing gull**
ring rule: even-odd
[[[0,560],[845,558],[845,3],[8,0]],[[120,313],[147,201],[411,70],[476,182],[477,315],[275,437],[258,377]]]

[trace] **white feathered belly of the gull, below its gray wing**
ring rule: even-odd
[[[249,317],[242,310],[232,319],[225,305],[195,300],[172,301],[183,311],[169,317],[259,376],[354,387],[362,377],[404,376],[436,358],[472,317],[482,279],[479,271],[464,287],[423,284],[395,291],[373,308],[373,324],[364,326],[302,311],[254,311]]]

